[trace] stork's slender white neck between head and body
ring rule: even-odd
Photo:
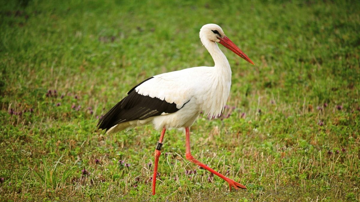
[[[210,55],[212,56],[212,59],[214,60],[215,67],[221,68],[224,70],[230,70],[230,64],[228,59],[226,59],[224,53],[219,49],[219,46],[217,46],[216,42],[210,41],[208,39],[201,38],[201,42],[206,47],[206,49],[209,51]],[[230,70],[231,72],[231,70]]]

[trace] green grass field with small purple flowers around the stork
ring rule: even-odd
[[[1,1],[0,201],[359,201],[359,1]],[[99,117],[144,79],[212,66],[219,24],[256,64],[232,68],[222,117],[199,117],[185,160],[168,130],[151,195],[151,125]]]

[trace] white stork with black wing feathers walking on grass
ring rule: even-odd
[[[190,153],[190,126],[201,112],[215,117],[224,110],[231,85],[229,61],[217,43],[254,64],[217,24],[206,24],[200,29],[200,40],[212,56],[215,66],[198,66],[159,74],[132,88],[125,98],[112,107],[98,123],[107,134],[126,128],[152,123],[162,129],[155,149],[152,193],[155,195],[156,174],[162,141],[167,128],[185,128],[186,159],[203,167],[229,183],[235,189],[246,187],[202,164]]]

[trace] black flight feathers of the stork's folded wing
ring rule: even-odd
[[[148,78],[147,80],[151,78]],[[152,116],[159,116],[164,112],[174,113],[179,110],[174,102],[168,103],[157,97],[152,98],[150,96],[140,95],[134,91],[135,88],[136,87],[132,88],[129,91],[128,96],[118,102],[99,120],[99,129],[109,130],[111,127],[119,123],[132,120],[143,120]]]

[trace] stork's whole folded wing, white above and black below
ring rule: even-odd
[[[200,78],[208,78],[208,75],[204,75],[206,69],[206,67],[188,68],[146,79],[132,88],[125,98],[99,120],[99,129],[108,130],[126,121],[175,113],[194,96],[193,89],[197,89],[200,95],[206,91],[207,82],[210,83],[211,80]],[[205,98],[199,100],[199,104],[203,100]]]

